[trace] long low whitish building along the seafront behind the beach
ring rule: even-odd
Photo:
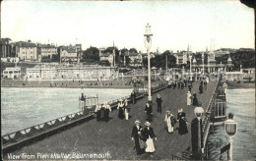
[[[118,70],[101,66],[35,66],[27,69],[29,80],[111,80]]]

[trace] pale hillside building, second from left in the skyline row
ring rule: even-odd
[[[52,59],[52,55],[57,55],[57,47],[54,44],[37,44],[38,62],[43,58]]]

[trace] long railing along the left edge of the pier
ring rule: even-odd
[[[152,87],[152,93],[156,93],[164,88],[166,88],[165,83],[162,83],[156,87]],[[142,99],[146,95],[146,91],[143,90],[136,94],[136,99]],[[119,99],[120,98],[107,102],[110,105],[111,109],[115,109],[117,107]],[[128,101],[131,101],[130,95],[124,96],[122,97],[122,99],[127,99]],[[80,122],[89,121],[95,118],[94,111],[95,106],[91,106],[90,108],[88,108],[88,110],[85,111],[80,111],[57,119],[53,119],[12,134],[4,134],[1,137],[3,142],[2,149],[4,151],[12,151],[18,146],[24,146],[34,140],[42,139],[52,134],[57,134],[58,132],[75,126]]]

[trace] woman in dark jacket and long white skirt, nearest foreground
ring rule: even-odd
[[[155,152],[155,146],[154,146],[154,141],[153,141],[153,138],[155,137],[155,139],[157,140],[157,136],[156,134],[154,133],[154,130],[151,126],[151,123],[150,122],[146,122],[145,123],[145,129],[144,129],[144,134],[145,134],[145,138],[146,138],[146,144],[147,144],[147,147],[145,149],[145,151],[147,153],[150,153],[151,154],[151,157],[153,157],[153,153]]]

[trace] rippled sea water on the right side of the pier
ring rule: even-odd
[[[255,89],[228,89],[226,100],[227,113],[232,112],[237,122],[237,133],[232,137],[233,160],[255,160]],[[220,159],[221,148],[229,141],[224,126],[215,127],[215,134],[210,134],[208,140],[210,159]]]

